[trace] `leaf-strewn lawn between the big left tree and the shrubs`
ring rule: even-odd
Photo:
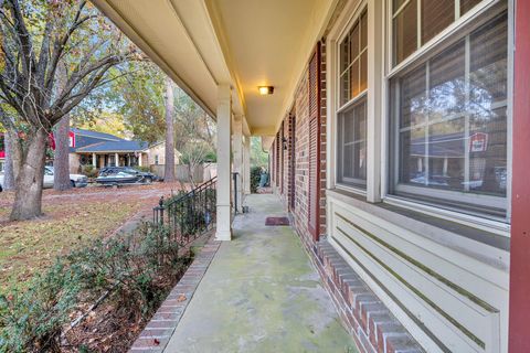
[[[45,215],[39,220],[0,223],[0,293],[23,289],[56,256],[109,235],[141,206],[136,200],[82,199],[44,205]],[[0,206],[0,218],[9,212]]]

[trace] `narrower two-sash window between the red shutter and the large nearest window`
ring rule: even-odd
[[[367,185],[368,13],[360,12],[339,47],[337,182]]]

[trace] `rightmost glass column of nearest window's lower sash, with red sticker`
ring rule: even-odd
[[[507,14],[470,35],[470,186],[506,195]]]

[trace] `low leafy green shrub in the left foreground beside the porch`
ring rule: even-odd
[[[25,292],[0,297],[0,352],[60,351],[61,333],[80,301],[92,303],[104,292],[130,318],[151,314],[189,257],[168,228],[141,224],[136,232],[59,258]]]

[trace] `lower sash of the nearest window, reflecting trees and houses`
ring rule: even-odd
[[[391,192],[506,217],[506,6],[400,69],[390,87]]]

